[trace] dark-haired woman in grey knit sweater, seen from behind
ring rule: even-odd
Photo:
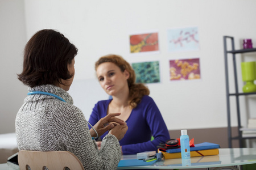
[[[28,96],[16,115],[19,150],[70,151],[85,169],[115,169],[121,159],[119,140],[127,131],[120,113],[109,114],[89,130],[68,94],[75,75],[77,48],[61,33],[43,29],[27,42],[18,79]],[[98,150],[94,137],[108,134]]]

